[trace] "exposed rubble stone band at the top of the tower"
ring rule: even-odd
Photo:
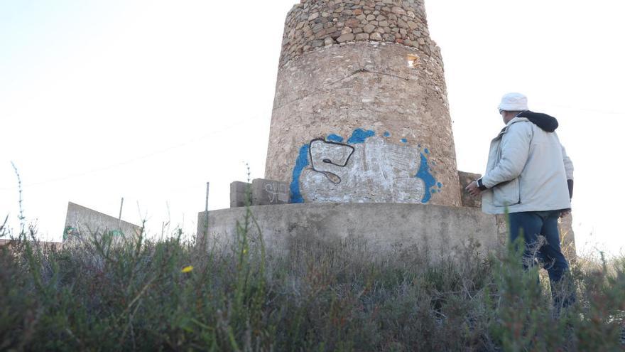
[[[399,43],[425,55],[437,51],[423,0],[302,0],[286,18],[280,65],[315,48],[350,41]]]

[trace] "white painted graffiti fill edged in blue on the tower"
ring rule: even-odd
[[[306,202],[421,203],[425,195],[425,183],[415,177],[420,166],[415,146],[382,137],[359,144],[315,140],[310,159],[312,168],[300,176]]]

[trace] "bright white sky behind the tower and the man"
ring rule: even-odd
[[[67,202],[195,231],[264,174],[283,23],[296,0],[0,0],[0,215],[60,240]],[[236,5],[233,5],[236,4]],[[429,0],[458,167],[484,170],[506,92],[558,117],[578,249],[616,253],[625,114],[622,1]]]

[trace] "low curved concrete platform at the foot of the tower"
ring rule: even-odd
[[[376,252],[397,247],[427,247],[431,252],[455,255],[472,240],[482,252],[495,249],[506,227],[494,215],[476,208],[388,203],[310,203],[251,206],[268,250],[285,251],[294,240],[321,242],[358,240]],[[198,215],[197,240],[226,245],[236,238],[237,220],[246,208],[212,210]],[[257,230],[251,238],[257,238]]]

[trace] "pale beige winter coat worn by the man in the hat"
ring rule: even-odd
[[[515,117],[491,142],[481,178],[482,210],[501,214],[564,210],[571,207],[567,180],[573,165],[558,134],[545,132],[525,117]]]

